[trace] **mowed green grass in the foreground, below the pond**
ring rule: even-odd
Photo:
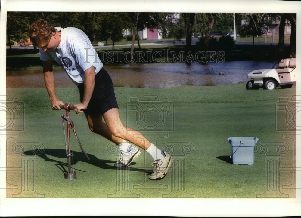
[[[77,88],[56,91],[65,103],[79,102]],[[117,147],[92,133],[84,114],[73,112],[70,118],[91,160],[82,154],[71,131],[77,179],[64,179],[67,158],[60,115],[65,111],[50,109],[45,88],[8,88],[11,101],[17,98],[24,103],[21,104],[24,115],[16,118],[14,128],[7,131],[7,167],[20,169],[7,172],[7,186],[11,187],[7,189],[7,197],[23,194],[45,198],[296,197],[291,168],[295,161],[295,135],[285,123],[285,113],[277,107],[280,99],[287,98],[284,104],[288,104],[296,95],[295,85],[272,91],[246,90],[242,83],[161,89],[116,87],[115,93],[123,124],[141,130],[157,147],[173,156],[174,163],[164,179],[149,180],[152,159],[143,149],[127,169],[116,170]],[[155,96],[160,102],[147,101],[149,113],[145,120],[136,116],[140,106],[143,107],[143,96],[144,99]],[[129,105],[136,105],[136,111]],[[158,115],[156,108],[162,109],[164,117]],[[24,130],[14,131],[22,129],[23,118]],[[227,138],[233,136],[259,138],[253,165],[232,164]],[[260,145],[264,146],[259,148]],[[278,168],[266,165],[274,163],[269,158],[278,161]],[[31,170],[24,168],[25,165]],[[29,176],[24,176],[22,169],[23,172],[27,169]],[[271,177],[272,174],[277,174],[277,178]]]

